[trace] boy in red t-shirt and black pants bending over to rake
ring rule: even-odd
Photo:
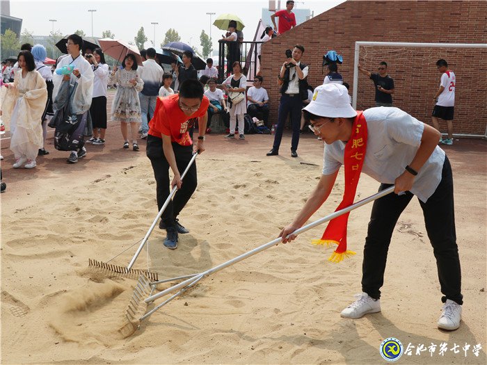
[[[178,233],[189,231],[179,224],[177,216],[182,211],[197,185],[196,163],[191,165],[184,184],[179,172],[184,171],[193,152],[205,151],[205,131],[209,100],[198,80],[186,80],[179,87],[179,94],[158,97],[154,117],[149,123],[147,136],[147,157],[152,163],[157,182],[157,206],[161,210],[169,197],[169,186],[177,186],[177,192],[162,213],[159,228],[166,229],[164,245],[171,250],[177,248]],[[193,145],[189,129],[198,120],[198,142]],[[173,170],[173,181],[169,181],[169,168]]]

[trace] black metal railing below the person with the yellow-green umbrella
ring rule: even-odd
[[[259,71],[260,62],[257,58],[257,44],[264,42],[218,40],[218,83],[222,83],[232,73],[232,63],[240,61],[247,76],[253,81]]]

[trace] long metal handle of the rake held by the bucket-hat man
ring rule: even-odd
[[[355,204],[351,204],[350,206],[347,206],[344,209],[341,209],[340,211],[335,211],[335,213],[331,213],[328,216],[321,218],[319,220],[315,220],[314,222],[311,222],[309,225],[305,225],[299,229],[296,229],[296,231],[292,232],[291,234],[288,234],[287,237],[291,236],[292,234],[301,234],[303,232],[308,231],[308,229],[312,229],[313,227],[316,227],[317,225],[321,225],[321,223],[327,222],[328,220],[332,220],[333,218],[337,218],[338,216],[342,216],[342,214],[348,213],[349,211],[353,211],[353,209],[357,209],[359,206],[365,205],[369,202],[372,202],[374,200],[377,200],[379,197],[383,197],[384,195],[388,195],[394,191],[394,186],[390,186],[389,188],[386,188],[384,190],[379,191],[378,193],[371,195],[369,197],[366,197],[365,199],[360,200],[359,202],[356,202]],[[151,302],[154,302],[157,298],[161,298],[162,296],[171,293],[173,291],[176,291],[177,289],[184,288],[185,286],[189,286],[195,281],[195,277],[202,278],[205,276],[208,276],[210,274],[216,273],[217,271],[223,270],[224,268],[227,268],[228,266],[233,265],[234,263],[237,263],[239,261],[242,261],[250,256],[253,256],[254,254],[257,254],[259,252],[262,252],[273,245],[277,245],[282,241],[281,237],[278,237],[274,239],[273,241],[270,241],[258,248],[254,248],[253,250],[250,250],[248,252],[245,252],[244,254],[241,254],[240,256],[235,257],[234,259],[231,259],[227,262],[221,263],[218,266],[215,266],[214,268],[210,268],[209,270],[206,270],[203,273],[197,274],[192,276],[189,279],[184,280],[184,282],[180,282],[179,284],[176,284],[175,286],[171,286],[170,288],[161,291],[160,293],[151,295],[150,297],[146,298],[144,301],[148,304]],[[198,279],[199,281],[199,279]],[[161,306],[159,306],[161,307]],[[159,308],[158,307],[158,308]]]

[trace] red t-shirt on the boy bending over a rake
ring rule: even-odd
[[[189,129],[194,125],[198,117],[207,113],[209,100],[203,97],[200,108],[190,116],[184,114],[179,108],[179,94],[168,97],[158,97],[154,117],[149,122],[149,134],[162,138],[170,136],[171,142],[182,146],[191,146],[193,141],[189,136]]]

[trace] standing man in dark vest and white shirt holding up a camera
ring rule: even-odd
[[[304,47],[296,44],[291,51],[287,49],[287,60],[282,64],[278,76],[280,88],[280,103],[278,112],[278,127],[274,136],[274,144],[267,156],[277,156],[279,154],[282,131],[286,123],[287,115],[290,113],[292,125],[291,156],[297,157],[296,150],[299,143],[299,125],[301,121],[301,109],[303,100],[308,99],[308,65],[301,63]]]

